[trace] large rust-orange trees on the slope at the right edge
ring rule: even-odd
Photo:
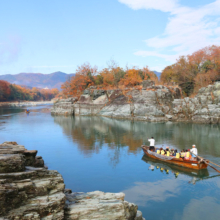
[[[214,45],[191,55],[181,56],[175,64],[166,67],[161,74],[162,83],[176,82],[187,95],[219,79],[220,47]]]

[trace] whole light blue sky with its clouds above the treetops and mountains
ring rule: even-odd
[[[0,0],[0,75],[85,62],[161,71],[220,44],[220,0]]]

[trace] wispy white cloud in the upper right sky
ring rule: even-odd
[[[205,46],[220,42],[220,0],[190,8],[175,0],[119,0],[132,9],[155,9],[169,12],[164,32],[145,40],[151,50],[137,51],[137,56],[155,56],[175,62],[180,55],[187,55]],[[164,6],[164,4],[166,6]],[[170,55],[173,54],[173,55]]]

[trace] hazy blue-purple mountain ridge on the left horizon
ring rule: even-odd
[[[15,75],[0,75],[0,80],[8,81],[12,84],[37,87],[37,88],[57,88],[61,89],[61,85],[75,74],[66,74],[63,72],[55,72],[50,74],[42,73],[19,73]]]

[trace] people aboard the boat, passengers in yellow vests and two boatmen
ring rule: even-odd
[[[175,158],[182,158],[184,160],[194,160],[196,156],[198,155],[198,150],[196,148],[196,145],[192,145],[192,149],[188,150],[182,150],[181,152],[178,152],[176,149],[170,149],[168,146],[166,149],[163,148],[155,148],[155,140],[152,137],[151,139],[148,139],[150,142],[150,148],[149,150],[156,152],[157,154],[161,154],[168,157],[175,157]]]

